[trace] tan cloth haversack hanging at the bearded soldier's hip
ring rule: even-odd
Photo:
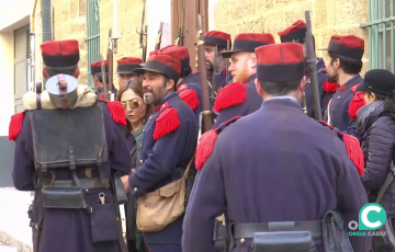
[[[185,202],[185,181],[193,158],[194,156],[180,180],[138,198],[136,222],[140,231],[160,231],[182,215]]]

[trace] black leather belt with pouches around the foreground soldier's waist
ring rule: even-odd
[[[308,241],[321,238],[324,251],[353,252],[347,227],[338,211],[328,211],[323,220],[315,221],[283,221],[262,224],[228,225],[229,251],[237,242],[252,239],[256,252],[259,251],[314,251]],[[309,245],[308,245],[309,244]],[[314,243],[313,243],[314,244]]]

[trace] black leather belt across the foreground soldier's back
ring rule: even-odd
[[[323,221],[279,221],[262,224],[230,224],[233,239],[253,238],[256,232],[309,231],[312,237],[323,236]]]

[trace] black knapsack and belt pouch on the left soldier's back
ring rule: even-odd
[[[104,173],[109,154],[101,106],[37,110],[30,115],[37,187],[42,188],[44,206],[87,208],[84,190],[110,187]],[[76,170],[89,167],[97,168],[100,177],[79,179]],[[54,174],[60,170],[68,170],[72,180],[56,180]],[[46,172],[53,174],[52,180],[43,177]]]

